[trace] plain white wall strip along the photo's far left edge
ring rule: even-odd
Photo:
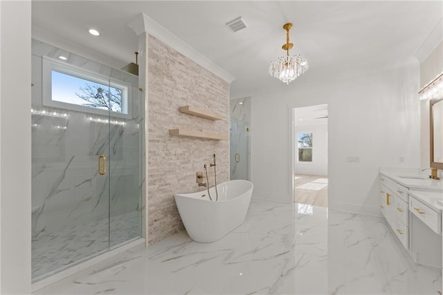
[[[0,1],[1,294],[30,294],[30,1]]]

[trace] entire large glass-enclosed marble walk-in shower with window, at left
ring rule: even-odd
[[[138,77],[33,39],[32,277],[142,236]]]

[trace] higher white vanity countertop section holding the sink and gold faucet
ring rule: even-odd
[[[443,178],[433,180],[428,178],[429,171],[420,169],[380,168],[380,174],[411,190],[425,190],[440,193],[443,196]]]

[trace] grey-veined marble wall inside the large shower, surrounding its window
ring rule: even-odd
[[[140,216],[144,108],[139,108],[138,77],[35,39],[32,54],[33,238],[106,219],[109,207],[111,216],[133,211]],[[132,119],[111,117],[125,124],[108,126],[89,120],[107,116],[42,105],[42,56],[60,55],[67,64],[131,84]],[[108,153],[108,134],[109,178],[97,171],[98,155]],[[123,240],[111,245],[118,242]]]

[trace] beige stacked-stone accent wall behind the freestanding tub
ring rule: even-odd
[[[196,172],[217,156],[217,182],[229,179],[228,140],[169,135],[169,129],[229,133],[229,85],[155,37],[148,38],[148,242],[184,229],[174,193],[203,190]],[[223,116],[211,121],[178,111],[197,106]],[[209,165],[208,165],[209,167]],[[214,169],[208,168],[210,187]]]

